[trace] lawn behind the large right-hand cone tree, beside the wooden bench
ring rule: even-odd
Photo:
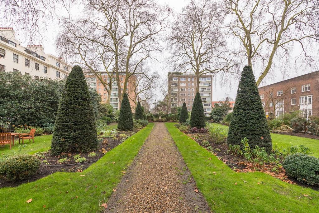
[[[221,127],[228,130],[228,126],[219,123],[211,123],[211,125]],[[277,145],[279,148],[285,148],[290,146],[304,145],[311,149],[312,154],[315,157],[319,157],[319,140],[311,138],[303,138],[291,135],[281,135],[271,133],[272,145]]]

